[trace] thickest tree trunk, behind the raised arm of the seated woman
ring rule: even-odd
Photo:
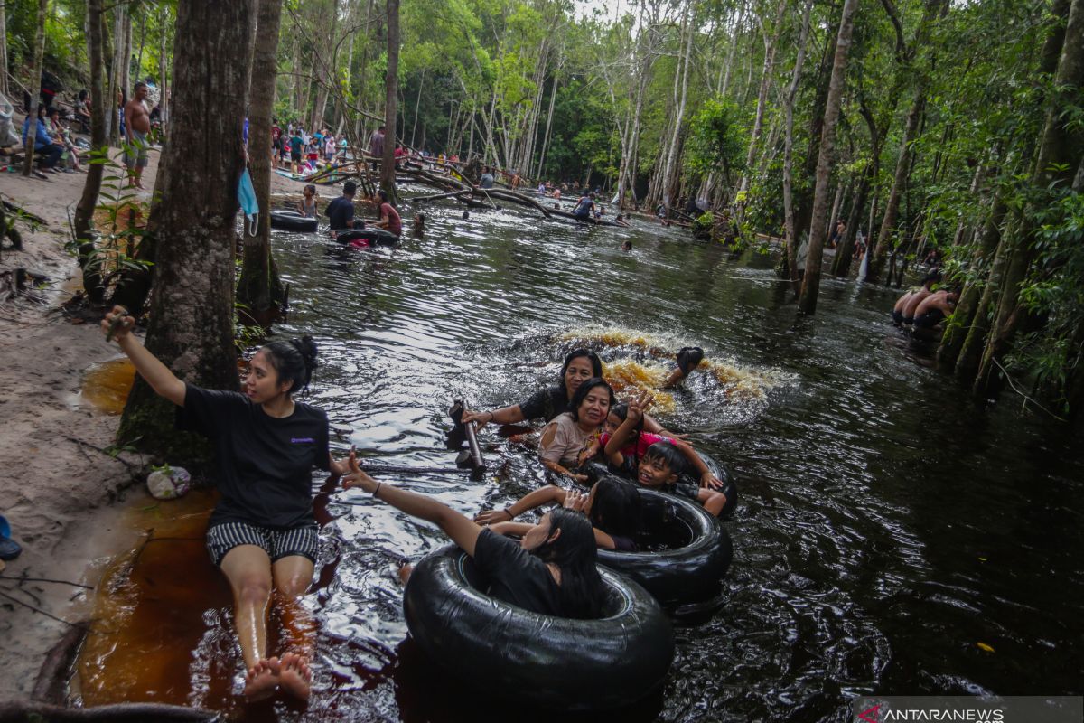
[[[251,0],[178,3],[184,42],[173,59],[177,106],[163,152],[169,173],[158,180],[149,222],[157,243],[146,348],[179,378],[211,389],[237,388],[233,264],[251,14]],[[192,436],[173,430],[172,404],[141,377],[118,438],[140,438],[171,459],[195,449]]]

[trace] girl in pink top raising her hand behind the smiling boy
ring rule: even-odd
[[[606,461],[630,477],[636,477],[640,460],[649,447],[657,442],[673,444],[685,457],[685,466],[695,472],[700,479],[700,487],[722,489],[723,480],[711,474],[708,465],[688,442],[644,431],[644,412],[650,403],[650,397],[644,392],[632,402],[622,402],[610,408],[606,424],[603,426],[603,435],[598,440]]]

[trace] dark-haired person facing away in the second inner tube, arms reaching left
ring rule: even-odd
[[[531,526],[512,520],[529,509],[551,503],[586,515],[594,527],[595,543],[603,550],[636,552],[633,537],[640,531],[640,494],[635,487],[616,477],[603,477],[591,487],[588,494],[547,485],[529,492],[504,509],[479,513],[475,516],[475,521],[489,525],[500,534],[521,537]]]

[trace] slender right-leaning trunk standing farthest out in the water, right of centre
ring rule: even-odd
[[[851,31],[854,29],[854,10],[859,0],[844,0],[843,13],[839,21],[836,38],[836,59],[831,65],[831,81],[824,109],[824,130],[821,134],[821,152],[816,164],[816,185],[813,191],[813,219],[810,225],[810,246],[805,256],[805,275],[802,277],[801,296],[798,308],[803,313],[816,311],[816,297],[821,288],[821,259],[824,251],[825,216],[828,214],[828,180],[831,176],[831,154],[836,141],[836,121],[843,95],[847,70],[847,51],[851,47]]]

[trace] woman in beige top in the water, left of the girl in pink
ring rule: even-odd
[[[558,414],[542,429],[539,440],[542,464],[577,482],[588,481],[588,475],[572,470],[598,453],[598,435],[614,402],[614,390],[602,377],[581,384],[569,402],[570,410]]]

